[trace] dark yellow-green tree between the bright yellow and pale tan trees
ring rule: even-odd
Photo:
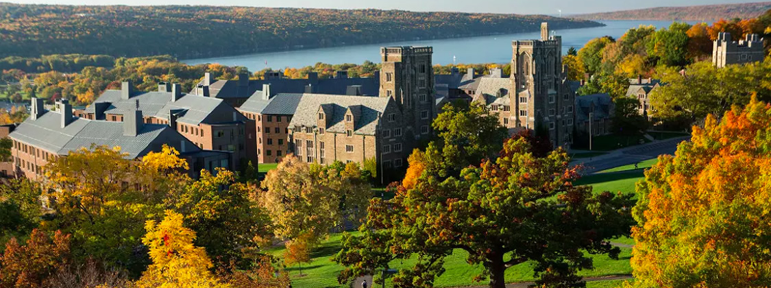
[[[236,175],[223,168],[212,175],[202,170],[178,196],[173,208],[183,213],[185,225],[199,236],[195,242],[219,263],[246,268],[267,245],[271,224],[250,195],[255,185],[236,181]]]

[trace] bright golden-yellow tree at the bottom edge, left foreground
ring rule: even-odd
[[[150,248],[153,264],[147,267],[139,287],[227,287],[213,273],[211,259],[193,242],[196,233],[183,227],[183,216],[167,211],[163,221],[148,221],[142,242]]]

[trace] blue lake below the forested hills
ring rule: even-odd
[[[668,27],[670,21],[600,21],[606,26],[555,30],[562,36],[562,53],[567,49],[581,48],[591,39],[613,36],[618,39],[630,28],[639,25]],[[694,22],[689,22],[693,24]],[[433,63],[508,63],[511,59],[511,40],[539,39],[540,32],[501,34],[455,39],[432,39],[379,44],[340,46],[320,49],[291,50],[272,53],[254,53],[241,56],[214,57],[182,60],[187,64],[220,63],[226,66],[245,66],[250,71],[264,68],[284,69],[286,67],[313,66],[315,63],[363,63],[365,60],[380,62],[382,46],[433,46]],[[453,62],[454,61],[454,62]],[[266,64],[267,63],[267,64]]]

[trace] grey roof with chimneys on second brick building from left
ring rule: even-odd
[[[136,101],[139,100],[139,109],[146,117],[169,118],[169,110],[183,110],[177,118],[177,122],[186,124],[210,123],[211,115],[219,107],[229,109],[223,100],[214,97],[201,97],[194,94],[183,93],[177,101],[171,101],[171,92],[143,92],[135,93],[128,100],[120,97],[120,90],[106,90],[94,103],[107,102],[110,106],[105,114],[123,115],[136,109]],[[94,113],[93,103],[86,107],[86,113]]]

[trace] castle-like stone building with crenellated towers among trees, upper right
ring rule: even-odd
[[[719,32],[718,39],[712,42],[712,64],[718,68],[760,62],[765,56],[763,38],[757,34],[747,34],[745,39],[736,42],[731,40],[731,33]]]

